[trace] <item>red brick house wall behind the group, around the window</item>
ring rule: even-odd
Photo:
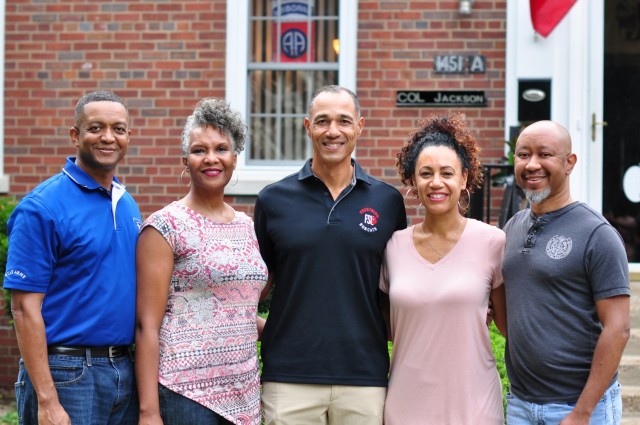
[[[118,176],[143,216],[183,196],[178,177],[184,119],[200,98],[225,95],[226,3],[7,0],[4,165],[10,195],[19,198],[60,170],[74,152],[68,129],[75,101],[86,91],[108,89],[131,109],[133,135]],[[398,108],[396,90],[437,89],[485,91],[487,107],[461,110],[483,160],[497,162],[504,147],[506,1],[476,0],[473,14],[465,16],[452,0],[358,4],[362,165],[400,188],[395,154],[418,119],[442,110]],[[434,55],[446,54],[483,55],[486,73],[434,73]],[[249,214],[254,200],[228,199]],[[420,213],[408,211],[412,218]],[[13,388],[14,341],[3,317],[0,388]]]

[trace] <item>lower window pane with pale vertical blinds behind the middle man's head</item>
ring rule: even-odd
[[[298,163],[311,156],[304,117],[313,92],[336,84],[337,71],[250,72],[249,163]]]

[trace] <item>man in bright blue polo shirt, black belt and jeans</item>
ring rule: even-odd
[[[140,211],[115,178],[129,112],[114,93],[83,96],[61,173],[9,218],[4,287],[20,347],[24,424],[136,424],[131,345]]]

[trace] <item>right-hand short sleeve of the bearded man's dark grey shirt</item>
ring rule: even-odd
[[[585,252],[585,267],[595,301],[631,295],[627,253],[622,237],[611,225],[604,223],[594,230]]]

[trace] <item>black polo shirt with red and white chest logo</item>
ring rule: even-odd
[[[354,168],[352,184],[336,201],[310,160],[258,195],[256,234],[274,275],[263,381],[387,385],[380,265],[387,241],[407,218],[393,186],[355,161]]]

